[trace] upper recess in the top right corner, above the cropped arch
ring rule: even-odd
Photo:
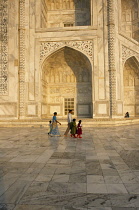
[[[121,31],[139,41],[139,0],[121,0]]]

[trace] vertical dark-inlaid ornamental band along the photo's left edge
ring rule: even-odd
[[[8,94],[8,0],[0,2],[0,95]]]

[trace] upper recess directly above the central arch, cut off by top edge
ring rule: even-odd
[[[41,0],[40,28],[91,25],[90,0]]]

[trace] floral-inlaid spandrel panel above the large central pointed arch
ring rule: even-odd
[[[64,41],[64,42],[41,42],[40,62],[43,62],[53,52],[63,48],[71,47],[86,55],[89,60],[93,61],[93,41]]]

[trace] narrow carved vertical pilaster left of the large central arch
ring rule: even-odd
[[[19,1],[19,116],[25,116],[25,0]]]

